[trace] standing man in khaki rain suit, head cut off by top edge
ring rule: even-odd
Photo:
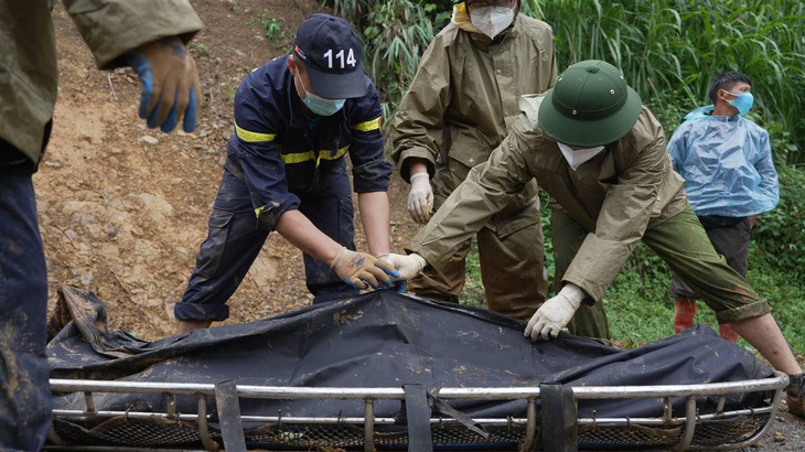
[[[400,103],[391,158],[411,183],[408,209],[420,224],[500,144],[519,112],[519,96],[556,82],[550,26],[518,11],[517,0],[457,4]],[[412,292],[458,302],[473,236],[489,308],[528,319],[547,293],[536,182],[476,234],[453,244],[439,271],[428,268],[410,282]]]

